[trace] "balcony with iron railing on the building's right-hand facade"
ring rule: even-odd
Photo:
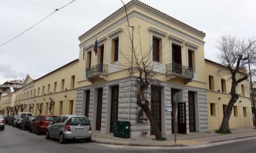
[[[177,63],[166,64],[166,75],[168,81],[173,78],[185,79],[185,83],[189,83],[194,78],[194,71],[190,67]]]

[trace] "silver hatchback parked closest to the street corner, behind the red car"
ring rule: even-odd
[[[91,141],[92,135],[91,123],[86,116],[61,115],[48,126],[45,139],[56,138],[63,144],[67,139]]]

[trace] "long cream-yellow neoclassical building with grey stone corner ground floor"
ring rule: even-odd
[[[219,64],[204,58],[205,33],[140,1],[130,1],[126,10],[127,15],[125,7],[116,10],[79,37],[79,59],[36,80],[27,76],[23,88],[15,93],[15,103],[34,105],[31,110],[26,108],[34,115],[43,103],[42,113],[49,114],[47,108],[54,99],[55,115],[86,115],[94,130],[112,133],[113,122],[122,120],[130,122],[131,137],[143,137],[142,131],[148,132],[146,136],[154,134],[136,103],[136,76],[130,77],[124,68],[133,59],[129,37],[133,32],[135,50],[148,53],[158,74],[160,83],[151,83],[148,100],[162,134],[174,132],[177,92],[178,133],[218,129],[230,82],[212,71]],[[241,97],[230,128],[252,126],[247,83],[237,90]]]

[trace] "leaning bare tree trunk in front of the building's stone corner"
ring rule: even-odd
[[[156,140],[163,140],[162,133],[160,132],[160,130],[158,128],[158,125],[157,125],[157,121],[155,121],[155,118],[154,118],[154,116],[152,115],[152,113],[150,111],[149,101],[145,100],[145,104],[142,104],[141,100],[140,100],[140,94],[137,94],[137,104],[138,104],[138,106],[140,106],[142,108],[142,110],[147,115],[147,118],[148,118],[148,120],[150,121],[150,124],[151,124],[152,131],[155,134],[155,139]]]

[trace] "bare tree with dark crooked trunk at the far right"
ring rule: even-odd
[[[222,74],[229,76],[232,81],[230,88],[230,100],[227,104],[225,114],[223,115],[219,132],[227,133],[228,122],[232,113],[232,108],[239,94],[236,92],[237,85],[243,81],[247,81],[250,73],[255,74],[255,69],[247,71],[248,64],[256,65],[256,45],[255,40],[248,39],[247,42],[240,41],[235,37],[223,36],[218,44],[218,59],[222,61],[223,67],[219,70]]]

